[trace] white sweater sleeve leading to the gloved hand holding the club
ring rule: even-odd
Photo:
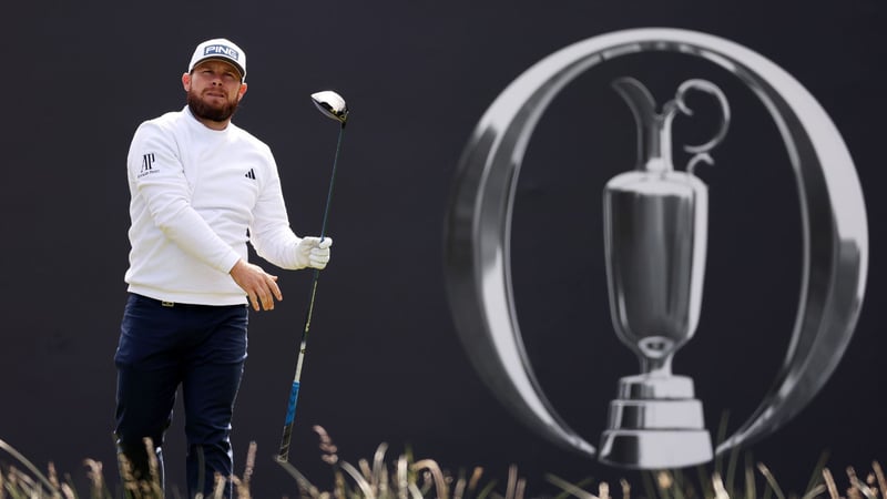
[[[289,227],[281,176],[271,152],[267,179],[253,210],[249,241],[256,254],[274,265],[289,269],[302,268],[296,258],[296,246],[300,240]]]

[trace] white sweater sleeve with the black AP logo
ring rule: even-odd
[[[171,133],[143,123],[130,146],[129,175],[133,195],[141,196],[154,224],[179,247],[213,268],[227,273],[239,255],[191,205],[191,187]]]

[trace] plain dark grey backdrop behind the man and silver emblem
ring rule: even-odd
[[[510,464],[531,493],[567,479],[636,475],[555,448],[517,422],[482,385],[447,305],[442,235],[456,165],[498,93],[567,44],[638,27],[694,29],[772,59],[823,104],[844,135],[866,194],[868,292],[846,357],[810,406],[755,446],[798,490],[823,451],[837,473],[887,458],[881,218],[887,8],[863,0],[153,2],[40,0],[0,20],[6,109],[0,135],[3,240],[0,439],[78,483],[84,458],[114,479],[113,352],[129,251],[124,161],[135,126],[183,105],[193,47],[228,37],[248,54],[236,122],[275,151],[292,223],[319,231],[336,140],[308,95],[335,89],[353,110],[330,215],[334,259],[320,279],[303,376],[293,464],[320,486],[313,425],[356,464],[387,441],[442,466]],[[696,379],[715,431],[732,430],[768,387],[797,303],[797,193],[775,126],[728,75],[676,55],[633,58],[578,79],[539,124],[514,212],[514,286],[527,346],[561,415],[597,442],[620,376],[636,363],[606,309],[600,192],[633,165],[631,114],[608,88],[641,78],[662,102],[685,78],[722,85],[734,126],[701,170],[711,187],[703,316],[675,370]],[[704,102],[701,106],[706,105]],[[704,113],[703,113],[704,116]],[[677,123],[687,140],[705,118]],[[690,123],[687,121],[686,123]],[[683,160],[679,159],[679,163]],[[257,497],[294,493],[272,461],[295,368],[309,274],[282,273],[285,302],[253,314],[251,356],[234,421],[238,470],[258,444]],[[177,415],[181,416],[181,415]],[[183,485],[182,418],[167,441]],[[6,457],[3,457],[6,459]],[[504,491],[503,486],[501,491]]]

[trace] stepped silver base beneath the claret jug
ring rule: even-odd
[[[667,469],[712,460],[702,403],[684,376],[629,376],[610,403],[599,460],[622,468]]]

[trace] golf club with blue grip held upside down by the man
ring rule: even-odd
[[[320,225],[320,241],[326,236],[326,221],[329,216],[329,203],[333,200],[333,185],[336,182],[336,163],[339,159],[339,151],[341,150],[341,136],[345,134],[345,123],[348,120],[348,106],[345,99],[332,90],[316,92],[312,94],[312,101],[320,112],[333,120],[339,122],[339,138],[336,141],[336,154],[333,157],[333,173],[329,177],[329,191],[326,196],[326,207],[324,207],[324,222]],[[299,379],[302,378],[302,365],[305,361],[305,352],[307,352],[308,329],[312,325],[312,313],[314,312],[314,299],[317,295],[317,279],[320,276],[320,271],[314,269],[312,277],[312,293],[308,299],[308,310],[305,314],[305,324],[302,329],[302,344],[298,349],[298,360],[296,361],[296,376],[293,378],[293,388],[289,391],[289,404],[286,408],[286,419],[284,421],[284,436],[281,439],[281,449],[277,452],[278,461],[289,460],[289,439],[293,436],[293,425],[296,417],[296,403],[298,401]]]

